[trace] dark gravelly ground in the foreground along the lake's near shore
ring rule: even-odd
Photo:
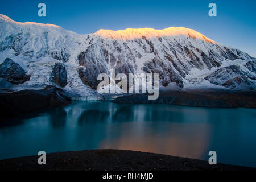
[[[256,168],[217,164],[197,159],[125,150],[88,150],[47,154],[47,165],[39,156],[0,160],[0,171],[256,171]]]

